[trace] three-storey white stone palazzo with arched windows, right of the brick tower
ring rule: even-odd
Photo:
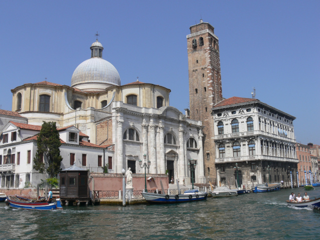
[[[258,99],[241,97],[215,104],[212,115],[220,184],[285,182],[290,171],[296,172],[294,116]]]

